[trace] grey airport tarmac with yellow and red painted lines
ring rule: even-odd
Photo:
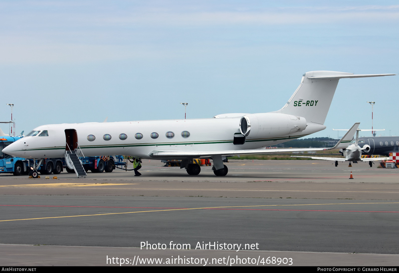
[[[332,163],[2,174],[0,265],[399,265],[398,169]]]

